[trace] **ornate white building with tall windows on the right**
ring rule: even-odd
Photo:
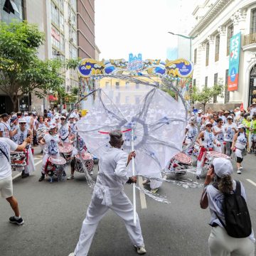
[[[193,17],[196,26],[189,33],[194,37],[193,85],[210,87],[220,79],[228,85],[228,79],[233,79],[232,74],[229,78],[229,63],[234,56],[230,39],[241,33],[240,48],[235,52],[239,61],[238,89],[226,88],[224,97],[215,98],[213,102],[219,107],[240,103],[247,107],[256,102],[256,1],[203,0],[194,9]],[[232,47],[237,43],[233,42]]]

